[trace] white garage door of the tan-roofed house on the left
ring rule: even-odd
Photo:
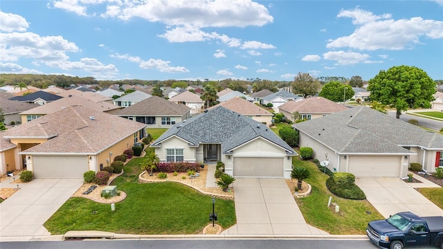
[[[89,170],[87,156],[33,156],[35,178],[82,179]]]

